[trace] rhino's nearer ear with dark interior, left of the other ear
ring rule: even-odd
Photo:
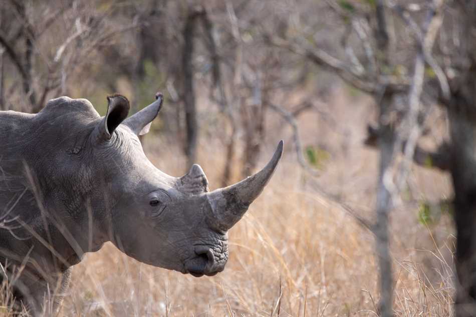
[[[126,119],[129,113],[129,101],[122,95],[107,97],[107,113],[98,127],[99,137],[109,140],[116,128]]]

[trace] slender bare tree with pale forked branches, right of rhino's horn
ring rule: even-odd
[[[380,153],[376,222],[368,227],[375,234],[375,250],[379,259],[381,291],[379,314],[390,317],[393,315],[393,281],[388,233],[389,213],[399,200],[402,184],[406,182],[408,161],[422,154],[416,147],[420,133],[420,122],[417,119],[423,111],[420,99],[425,83],[425,63],[435,69],[435,72],[439,70],[438,65],[430,60],[430,54],[441,26],[442,2],[429,2],[426,19],[423,19],[421,25],[416,24],[416,27],[412,24],[413,20],[405,19],[408,16],[407,12],[400,17],[407,28],[410,30],[416,28],[418,31],[413,43],[416,50],[413,51],[415,62],[411,77],[388,72],[389,69],[396,69],[399,66],[399,62],[394,58],[398,55],[395,51],[397,50],[395,39],[390,35],[395,34],[396,30],[394,25],[389,24],[388,19],[391,16],[393,20],[398,16],[397,9],[401,7],[390,5],[385,0],[377,0],[375,5],[369,8],[358,8],[354,2],[328,4],[346,25],[340,42],[342,59],[313,45],[306,40],[304,34],[297,39],[267,34],[266,39],[272,46],[286,49],[319,67],[335,72],[346,83],[370,94],[378,106],[378,127],[372,129],[375,140],[372,144],[379,148]],[[351,42],[351,35],[358,41]],[[361,52],[360,56],[355,52]],[[439,78],[439,83],[444,87],[444,78]],[[397,99],[402,98],[408,103],[403,108],[397,102]],[[395,158],[399,149],[402,149],[407,160],[397,166]]]

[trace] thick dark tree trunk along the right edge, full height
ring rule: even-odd
[[[461,26],[457,79],[452,81],[449,118],[450,173],[456,225],[456,317],[476,316],[476,3],[455,3]]]

